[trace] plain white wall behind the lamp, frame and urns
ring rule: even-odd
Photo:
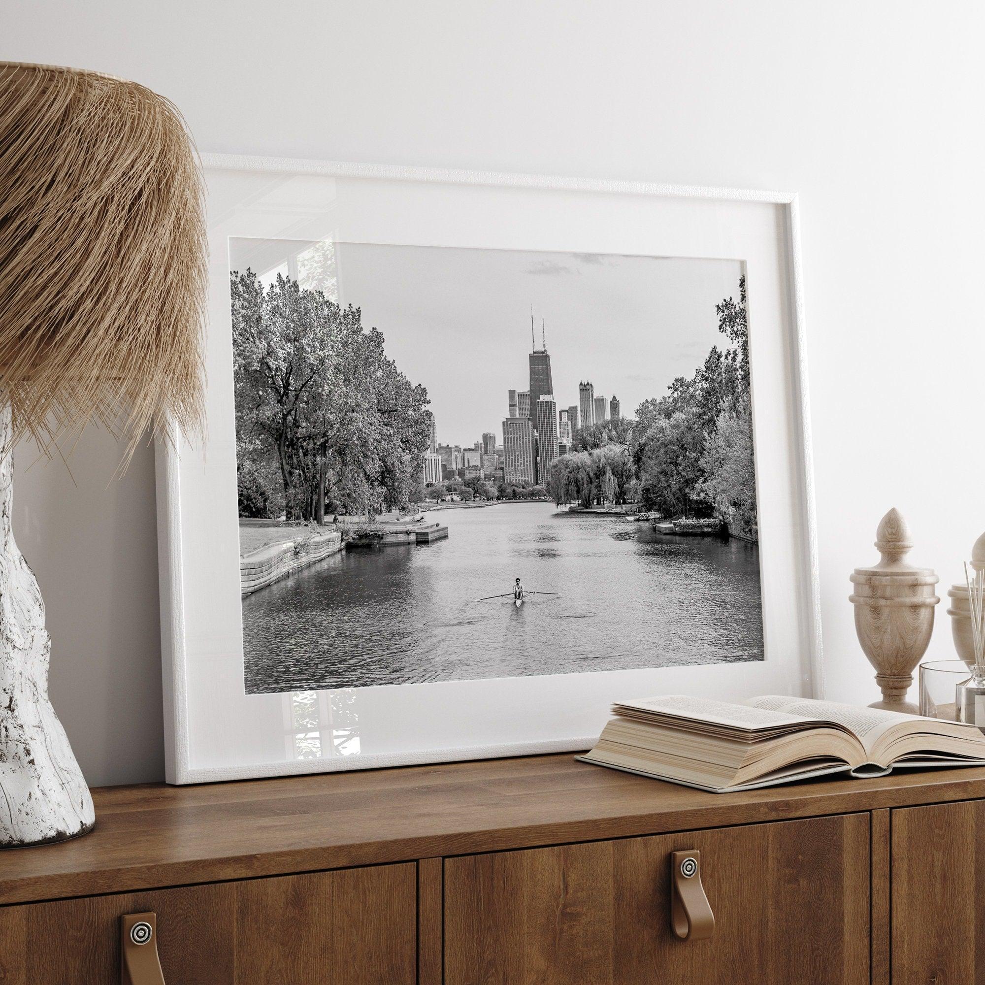
[[[828,693],[869,701],[848,574],[891,505],[958,577],[985,530],[985,8],[914,0],[2,0],[0,58],[125,76],[203,151],[802,196]],[[94,784],[160,779],[153,459],[18,479],[51,693]],[[29,456],[22,454],[21,465]],[[931,654],[951,655],[946,602]]]

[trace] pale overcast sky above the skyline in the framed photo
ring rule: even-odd
[[[247,243],[253,255],[274,245],[241,242],[231,251],[239,269]],[[615,394],[632,417],[727,342],[715,304],[738,298],[742,273],[735,260],[356,243],[335,250],[339,300],[361,307],[387,355],[427,387],[438,441],[463,446],[488,430],[502,442],[507,391],[528,388],[531,305],[538,348],[542,318],[547,326],[558,410],[577,404],[578,381],[591,380],[596,396]],[[260,274],[266,265],[252,264]]]

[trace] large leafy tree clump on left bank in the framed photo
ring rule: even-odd
[[[328,276],[334,257],[311,277]],[[359,308],[280,275],[230,277],[237,438],[276,463],[288,519],[409,504],[424,462],[427,390],[387,359]]]

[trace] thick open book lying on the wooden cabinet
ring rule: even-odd
[[[973,725],[769,694],[741,704],[671,694],[613,705],[595,748],[578,758],[726,793],[824,773],[985,766]]]

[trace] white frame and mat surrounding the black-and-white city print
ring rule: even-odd
[[[227,155],[203,163],[208,436],[157,450],[168,782],[573,752],[594,742],[613,700],[660,692],[821,696],[796,194]],[[319,691],[300,726],[292,694],[246,694],[226,244],[317,238],[326,224],[346,241],[742,260],[765,660]],[[298,729],[317,734],[320,755],[297,757]]]

